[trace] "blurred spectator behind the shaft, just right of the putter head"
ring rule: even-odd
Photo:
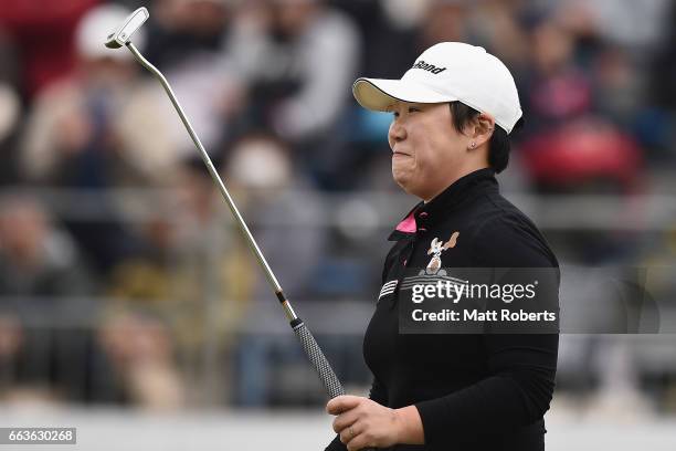
[[[214,157],[232,134],[231,116],[243,102],[242,82],[222,59],[233,14],[233,2],[228,0],[159,0],[148,24],[145,55],[171,81],[200,140]],[[168,122],[176,117],[166,101],[155,114],[171,116]],[[178,124],[167,129],[181,158],[194,155],[186,137]]]

